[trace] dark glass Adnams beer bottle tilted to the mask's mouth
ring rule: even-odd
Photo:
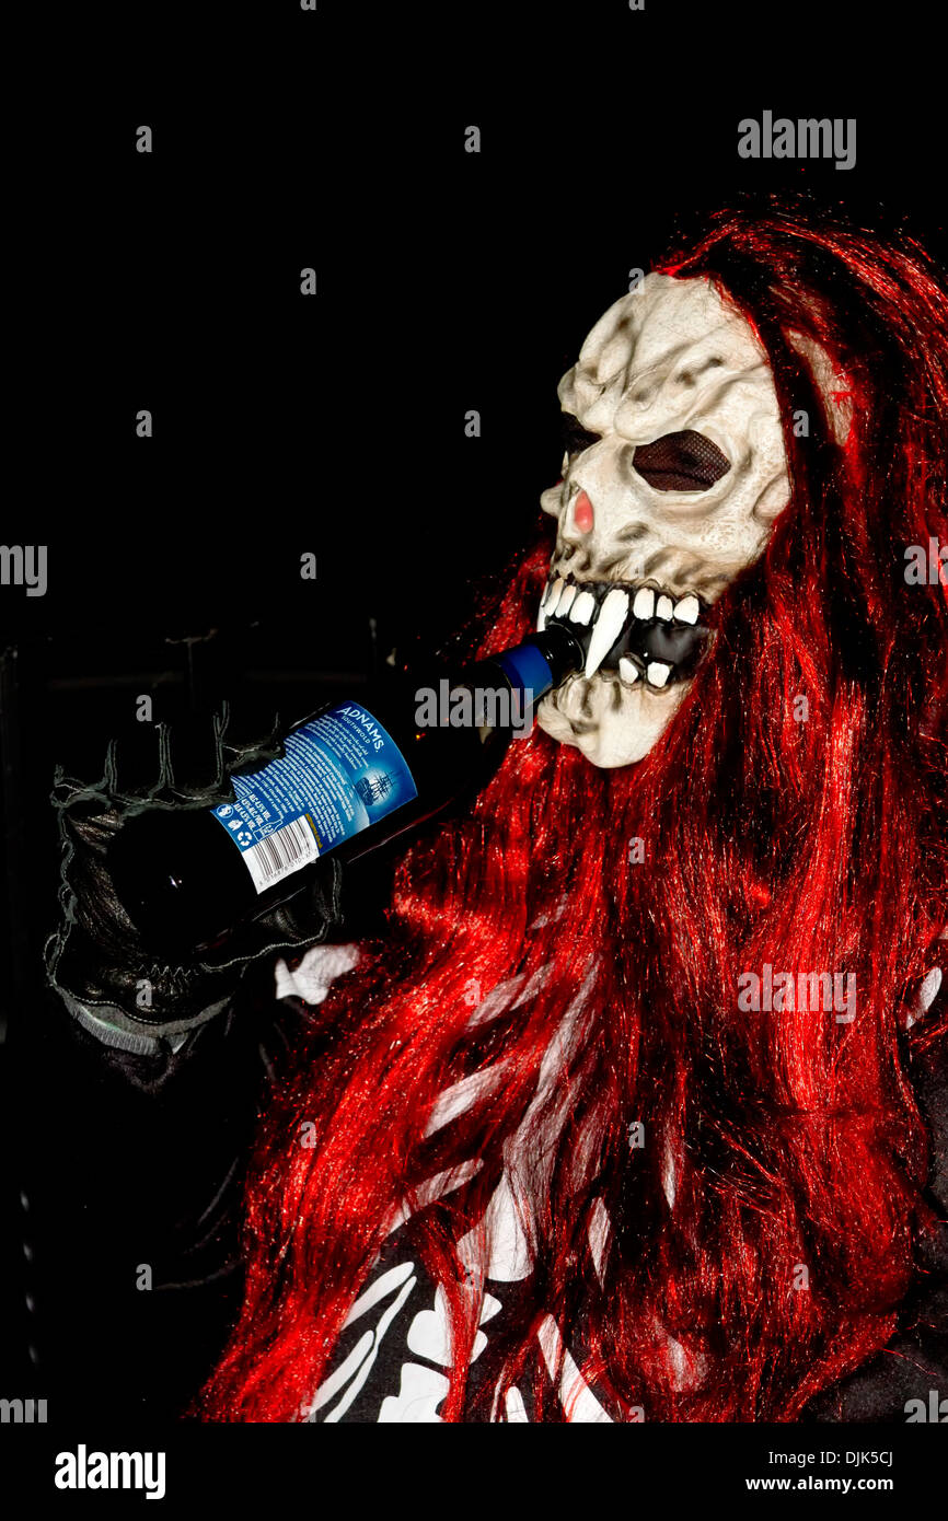
[[[552,625],[453,675],[324,704],[288,732],[285,759],[231,777],[233,805],[126,820],[108,855],[119,900],[154,951],[216,943],[326,855],[353,861],[484,786],[581,663],[580,640]]]

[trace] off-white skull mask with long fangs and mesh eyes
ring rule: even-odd
[[[537,627],[586,649],[537,710],[593,765],[641,760],[688,691],[703,614],[762,552],[790,499],[773,377],[705,278],[650,274],[592,329],[558,386],[575,420],[540,497],[557,543]]]

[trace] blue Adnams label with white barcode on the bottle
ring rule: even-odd
[[[213,809],[257,893],[418,795],[394,739],[359,703],[294,729],[285,750],[262,771],[231,777],[236,800]]]

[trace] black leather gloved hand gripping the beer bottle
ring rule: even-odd
[[[143,946],[105,865],[114,834],[126,818],[158,802],[177,809],[233,803],[231,776],[259,771],[285,753],[275,727],[262,741],[231,744],[227,704],[210,722],[201,722],[202,736],[193,726],[178,726],[173,756],[181,776],[204,776],[204,782],[187,785],[175,777],[166,724],[132,726],[128,739],[113,739],[97,782],[67,777],[62,767],[55,774],[50,800],[62,841],[62,917],[46,943],[46,969],[67,1008],[87,1028],[128,1049],[154,1048],[155,1037],[180,1036],[212,1019],[227,1007],[250,963],[275,951],[318,945],[341,922],[341,865],[327,856],[313,881],[260,919],[239,925],[213,949],[169,963],[155,960]],[[142,764],[143,748],[151,764]],[[196,765],[193,757],[201,748],[202,764]],[[116,1037],[110,1039],[108,1031]],[[151,1039],[137,1042],[137,1036]]]

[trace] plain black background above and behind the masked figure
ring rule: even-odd
[[[9,144],[0,537],[47,545],[49,589],[0,589],[5,1018],[55,923],[53,765],[96,776],[143,692],[268,727],[441,643],[540,526],[557,382],[630,269],[781,189],[945,256],[930,27],[659,0],[50,21]],[[741,160],[764,110],[855,117],[855,167]]]

